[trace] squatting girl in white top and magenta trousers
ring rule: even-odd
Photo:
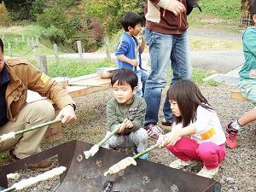
[[[225,135],[217,113],[190,80],[178,80],[167,94],[175,123],[172,131],[160,136],[158,142],[177,156],[170,166],[181,169],[200,161],[203,168],[197,175],[212,178],[226,154]]]

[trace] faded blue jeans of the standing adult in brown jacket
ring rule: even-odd
[[[172,67],[172,83],[190,79],[191,60],[188,33],[169,35],[145,29],[144,37],[149,46],[151,73],[145,85],[144,99],[147,103],[145,125],[158,122],[162,90],[166,87],[167,73]],[[171,61],[171,62],[170,62]],[[167,122],[172,122],[172,110],[168,98],[164,106]]]

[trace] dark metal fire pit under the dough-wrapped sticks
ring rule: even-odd
[[[129,166],[118,174],[104,177],[103,173],[110,166],[127,155],[101,148],[96,155],[85,160],[83,152],[91,146],[79,141],[63,143],[16,163],[2,166],[0,186],[7,188],[7,174],[57,154],[59,166],[66,166],[67,172],[61,175],[61,183],[56,192],[218,192],[221,189],[220,184],[213,179],[147,160],[137,160],[137,166]]]

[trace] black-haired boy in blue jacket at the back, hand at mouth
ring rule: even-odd
[[[142,31],[142,17],[133,12],[127,12],[123,16],[121,25],[125,32],[122,34],[115,55],[118,58],[119,68],[129,68],[137,73],[137,96],[143,96],[143,84],[148,79],[148,72],[142,67],[141,54],[145,48],[143,36],[137,40]]]

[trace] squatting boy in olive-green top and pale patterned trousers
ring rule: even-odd
[[[121,68],[111,79],[113,99],[107,105],[107,132],[119,126],[119,131],[108,139],[106,148],[135,147],[135,153],[143,152],[148,146],[148,133],[143,128],[146,103],[137,91],[137,75],[131,69]],[[148,159],[144,154],[141,159]]]

